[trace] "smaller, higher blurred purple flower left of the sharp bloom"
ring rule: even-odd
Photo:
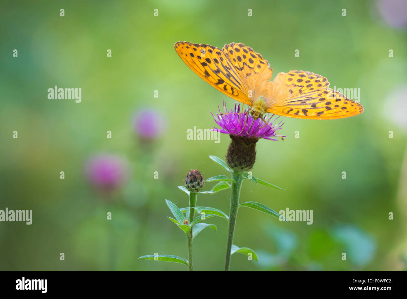
[[[161,113],[153,109],[141,109],[133,118],[133,129],[145,139],[154,139],[162,135],[165,120]]]

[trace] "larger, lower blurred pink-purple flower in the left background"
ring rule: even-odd
[[[125,183],[127,162],[115,155],[101,154],[91,158],[85,166],[89,183],[103,192],[112,192]]]

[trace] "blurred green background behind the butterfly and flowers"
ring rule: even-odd
[[[209,111],[234,100],[179,59],[173,44],[180,40],[220,48],[243,42],[269,61],[274,76],[307,70],[326,76],[331,87],[361,90],[360,116],[284,118],[284,142],[258,142],[254,175],[286,190],[245,181],[241,201],[313,210],[313,224],[242,208],[234,244],[258,251],[260,261],[236,254],[231,269],[405,269],[407,39],[405,26],[383,17],[396,2],[3,1],[0,210],[33,210],[33,224],[0,223],[0,270],[187,270],[137,258],[188,258],[164,199],[188,205],[177,186],[192,168],[206,178],[227,174],[208,155],[224,157],[229,137],[219,144],[187,140],[186,130],[213,127]],[[48,99],[54,85],[82,88],[82,102]],[[145,108],[162,115],[165,131],[154,140],[133,129],[134,114]],[[84,175],[86,161],[98,153],[128,163],[126,183],[109,195],[90,188]],[[229,200],[229,191],[198,196],[199,205],[227,213]],[[204,230],[194,240],[195,270],[220,271],[227,222],[206,222],[218,231]]]

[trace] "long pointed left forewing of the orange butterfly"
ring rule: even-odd
[[[177,42],[174,48],[186,65],[210,85],[235,100],[251,104],[241,73],[223,50],[186,41]]]

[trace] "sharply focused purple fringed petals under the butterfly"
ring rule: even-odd
[[[277,133],[279,129],[282,129],[283,123],[279,122],[278,124],[275,125],[273,124],[273,122],[277,118],[279,118],[279,116],[277,118],[274,118],[273,120],[272,118],[274,114],[271,114],[270,116],[265,116],[264,120],[267,122],[266,124],[260,118],[254,120],[253,116],[249,113],[249,109],[240,112],[240,104],[239,105],[235,104],[234,109],[230,109],[230,112],[226,108],[226,103],[223,103],[223,107],[225,108],[226,114],[219,115],[219,113],[222,113],[219,106],[218,106],[219,113],[217,113],[217,116],[214,116],[212,113],[210,113],[215,118],[215,122],[219,125],[219,127],[222,128],[218,129],[214,127],[213,131],[218,131],[221,133],[240,137],[256,139],[264,138],[275,141],[277,141],[277,139],[271,137],[274,136],[286,137],[284,135],[279,135]]]

